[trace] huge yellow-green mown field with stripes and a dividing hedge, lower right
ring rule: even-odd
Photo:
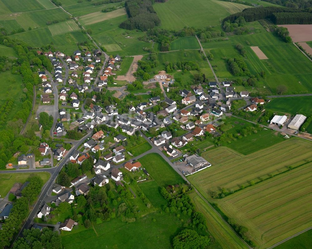
[[[202,153],[212,167],[188,179],[227,217],[247,227],[257,248],[267,248],[312,225],[310,147],[310,141],[297,138],[247,156],[219,147]],[[248,188],[222,199],[210,197],[212,191],[236,191],[241,185]]]

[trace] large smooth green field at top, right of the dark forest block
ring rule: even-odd
[[[185,26],[219,25],[222,19],[230,14],[229,10],[234,6],[235,12],[249,7],[243,4],[212,0],[172,0],[153,5],[161,20],[160,27],[168,30],[180,30]],[[195,16],[197,18],[190,18]]]

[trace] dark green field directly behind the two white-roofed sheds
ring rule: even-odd
[[[265,109],[276,112],[285,112],[292,115],[304,114],[312,115],[312,96],[274,98],[265,105]]]

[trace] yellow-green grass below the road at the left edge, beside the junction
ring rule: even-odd
[[[39,176],[44,183],[50,178],[48,172],[1,174],[0,195],[4,198],[15,183],[24,183],[32,176]]]

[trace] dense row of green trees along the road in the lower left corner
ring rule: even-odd
[[[1,248],[10,246],[12,238],[19,231],[23,220],[27,217],[30,206],[36,201],[42,185],[42,179],[34,176],[30,179],[30,183],[22,190],[22,197],[17,199],[13,204],[10,215],[0,230]]]

